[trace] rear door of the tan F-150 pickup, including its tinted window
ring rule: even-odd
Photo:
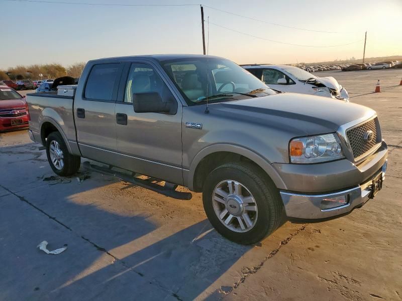
[[[116,61],[94,63],[82,93],[75,95],[77,141],[84,158],[116,163],[115,104],[122,68]]]

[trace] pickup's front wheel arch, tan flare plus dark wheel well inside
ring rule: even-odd
[[[188,173],[190,190],[201,192],[206,177],[215,168],[226,163],[246,162],[260,169],[279,189],[286,189],[286,185],[269,162],[253,153],[251,150],[237,145],[212,145],[211,149],[204,149],[195,156]],[[214,151],[216,149],[216,151]]]

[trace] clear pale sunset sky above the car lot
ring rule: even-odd
[[[362,58],[365,31],[367,58],[402,55],[402,0],[46,1],[52,3],[0,0],[0,69],[46,63],[68,66],[126,55],[202,54],[199,4],[206,6],[209,54],[238,64]],[[193,6],[53,4],[57,1]]]

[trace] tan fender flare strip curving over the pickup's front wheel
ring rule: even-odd
[[[257,164],[263,171],[265,171],[265,173],[271,178],[271,180],[278,189],[286,189],[286,185],[279,176],[279,174],[277,173],[277,171],[272,167],[271,163],[268,162],[266,159],[264,159],[261,155],[241,145],[229,144],[229,143],[217,143],[209,145],[204,149],[200,150],[200,152],[198,152],[198,154],[195,155],[195,157],[191,161],[189,171],[187,174],[187,184],[190,190],[193,190],[194,188],[193,179],[198,164],[208,155],[218,152],[234,153],[248,158],[249,160]]]

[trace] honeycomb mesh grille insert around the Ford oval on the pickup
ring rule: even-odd
[[[379,142],[381,134],[378,129],[378,119],[375,117],[374,119],[371,119],[362,125],[346,131],[346,136],[348,137],[350,147],[352,148],[353,157],[355,159],[368,152],[375,146],[375,144]],[[364,134],[369,130],[371,130],[374,134],[374,137],[371,141],[367,141],[364,138]]]

